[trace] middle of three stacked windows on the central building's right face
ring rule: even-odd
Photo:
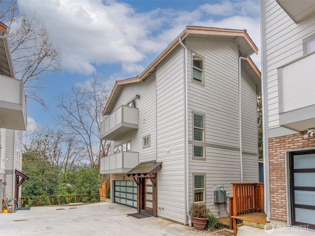
[[[204,158],[205,138],[204,138],[204,116],[193,113],[193,157]]]

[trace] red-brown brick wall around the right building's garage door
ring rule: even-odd
[[[269,139],[270,211],[273,219],[286,221],[285,151],[315,147],[315,136],[304,139],[305,133]]]

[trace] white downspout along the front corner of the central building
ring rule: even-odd
[[[189,218],[188,225],[192,226],[192,219],[189,215],[189,149],[188,149],[188,69],[187,69],[187,58],[188,52],[187,47],[183,44],[181,37],[179,37],[179,43],[185,50],[185,157],[186,157],[186,211]]]

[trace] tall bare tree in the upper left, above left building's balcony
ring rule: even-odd
[[[27,96],[46,107],[36,90],[43,88],[43,72],[61,71],[61,49],[51,42],[36,12],[19,11],[15,0],[0,0],[0,6],[16,77],[24,81]]]

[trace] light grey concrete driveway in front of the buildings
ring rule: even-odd
[[[1,236],[211,236],[218,235],[156,217],[137,219],[136,210],[113,203],[33,207],[0,214]]]

